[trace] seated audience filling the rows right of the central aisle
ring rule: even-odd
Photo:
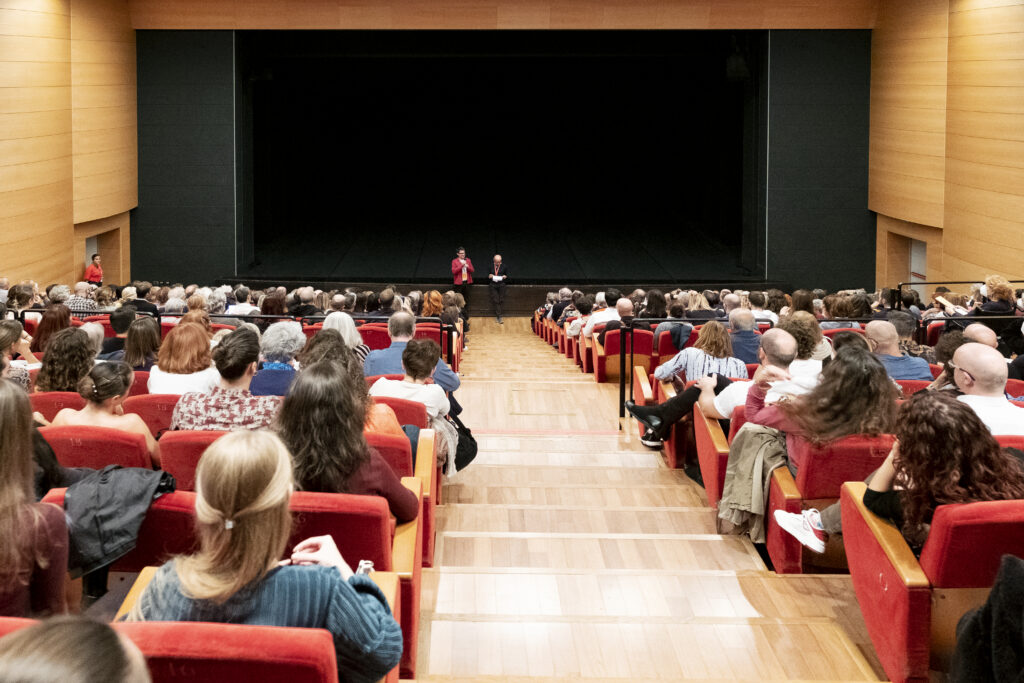
[[[892,290],[562,289],[549,293],[536,317],[597,344],[626,325],[652,330],[654,348],[657,336],[673,335],[675,354],[658,358],[652,379],[672,381],[675,391],[626,408],[645,429],[642,442],[656,449],[694,405],[722,421],[742,413],[718,514],[724,528],[756,542],[764,541],[766,501],[756,500],[761,482],[752,472],[767,477],[781,466],[796,476],[818,445],[894,434],[889,458],[867,477],[865,504],[920,550],[939,505],[1024,498],[1024,453],[995,440],[1024,435],[1024,407],[1011,400],[1022,392],[1008,393],[1008,379],[1022,379],[1024,369],[1021,294],[994,275],[969,295],[938,288],[928,305],[911,289],[899,305]],[[934,346],[923,334],[932,324],[941,326]],[[752,381],[745,364],[757,365]],[[827,535],[842,529],[838,503],[774,516],[819,553]]]

